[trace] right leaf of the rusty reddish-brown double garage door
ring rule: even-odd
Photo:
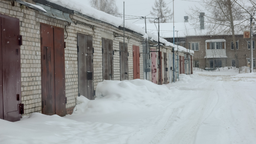
[[[64,29],[54,27],[53,33],[55,114],[63,117],[66,115]]]

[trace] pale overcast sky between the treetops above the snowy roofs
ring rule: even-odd
[[[89,4],[90,0],[85,0]],[[146,16],[150,14],[152,11],[152,6],[154,5],[155,0],[116,0],[117,7],[119,12],[123,14],[123,1],[125,1],[125,15],[132,16]],[[199,2],[201,0],[174,0],[174,21],[175,22],[183,22],[184,16],[186,15],[186,11],[189,12],[189,7],[194,5],[200,6]],[[173,2],[172,0],[165,0],[167,6],[173,11]],[[169,3],[169,4],[168,4]],[[90,4],[89,4],[90,5]],[[128,16],[126,16],[128,17]],[[151,15],[147,17],[153,17]],[[126,18],[127,19],[127,18]],[[135,20],[128,20],[130,22],[135,22]],[[144,23],[144,20],[139,20],[135,22]]]

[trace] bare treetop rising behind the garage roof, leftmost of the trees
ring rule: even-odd
[[[116,0],[90,0],[90,4],[97,10],[106,12],[113,16],[121,17],[116,6]]]

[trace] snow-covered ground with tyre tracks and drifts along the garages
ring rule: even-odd
[[[195,70],[180,81],[104,81],[72,115],[0,119],[0,144],[254,144],[256,73]]]

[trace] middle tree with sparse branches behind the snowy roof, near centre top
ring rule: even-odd
[[[154,7],[152,6],[152,12],[150,11],[151,15],[154,17],[159,17],[159,22],[166,23],[172,18],[173,13],[164,0],[155,0]],[[156,14],[154,14],[156,13]],[[153,23],[154,21],[149,20],[149,22]]]

